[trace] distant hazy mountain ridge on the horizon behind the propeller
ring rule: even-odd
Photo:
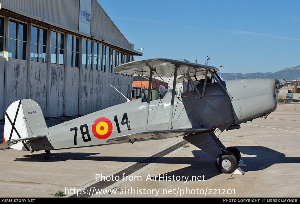
[[[220,72],[218,72],[220,76]],[[272,72],[257,72],[257,73],[222,73],[222,78],[224,80],[231,80],[231,79],[275,79],[275,77],[279,79],[300,79],[300,65],[297,67],[285,68],[284,70],[277,71],[275,73]]]

